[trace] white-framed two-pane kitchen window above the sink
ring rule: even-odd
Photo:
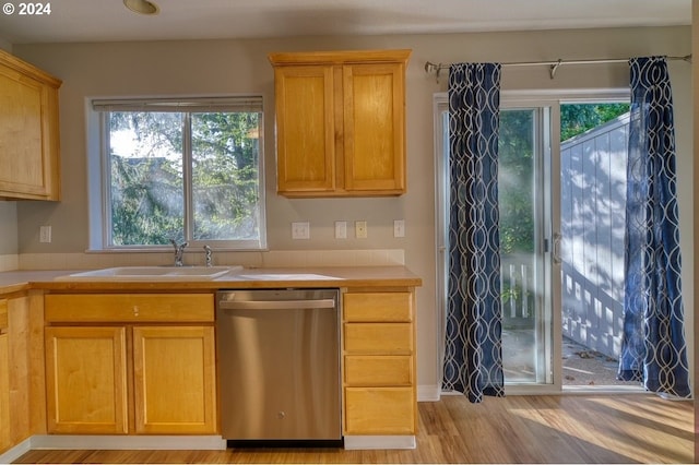
[[[96,99],[92,115],[92,249],[265,247],[262,97]]]

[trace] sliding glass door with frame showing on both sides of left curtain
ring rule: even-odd
[[[500,108],[499,215],[501,255],[502,361],[506,392],[560,390],[560,299],[557,251],[560,192],[550,131],[557,106],[542,103]],[[448,271],[448,103],[435,99],[437,172],[437,306],[445,318]],[[556,115],[557,117],[557,115]],[[556,147],[557,148],[557,147]],[[443,322],[443,320],[442,320]],[[440,325],[443,329],[443,324]],[[556,334],[555,334],[556,333]],[[443,341],[440,334],[440,341]]]

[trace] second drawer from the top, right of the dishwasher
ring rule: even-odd
[[[411,323],[345,323],[345,351],[359,354],[413,353]]]

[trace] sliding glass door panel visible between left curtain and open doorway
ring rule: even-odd
[[[550,107],[500,108],[499,214],[506,385],[554,383]],[[553,171],[556,172],[556,171]],[[556,377],[559,378],[559,377]]]

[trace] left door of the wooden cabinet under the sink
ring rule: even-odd
[[[127,432],[125,327],[47,327],[48,430]]]

